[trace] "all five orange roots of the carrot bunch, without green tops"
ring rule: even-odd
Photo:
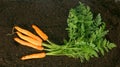
[[[32,47],[34,49],[42,51],[44,50],[44,47],[42,46],[43,41],[49,42],[48,36],[41,29],[39,29],[36,25],[32,25],[32,28],[35,30],[35,32],[39,36],[34,35],[28,30],[15,26],[14,29],[17,30],[16,34],[19,36],[19,38],[15,37],[14,40],[23,46]],[[46,53],[41,52],[37,54],[23,56],[21,60],[27,60],[27,59],[33,59],[33,58],[44,58],[45,56],[46,56]]]

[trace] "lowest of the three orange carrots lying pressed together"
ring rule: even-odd
[[[44,48],[41,47],[41,46],[37,46],[37,45],[34,45],[34,44],[31,44],[29,42],[26,42],[26,41],[23,41],[19,38],[14,38],[14,40],[18,43],[20,43],[21,45],[24,45],[24,46],[28,46],[28,47],[32,47],[34,49],[37,49],[37,50],[43,50]]]

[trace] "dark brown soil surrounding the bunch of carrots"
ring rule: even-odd
[[[120,67],[120,0],[80,0],[90,6],[94,15],[101,14],[109,33],[107,39],[117,47],[104,56],[81,63],[66,56],[47,56],[43,59],[21,61],[20,57],[38,53],[35,49],[14,42],[11,33],[18,25],[35,33],[32,24],[39,26],[49,40],[63,44],[67,39],[67,16],[79,0],[0,0],[0,67]]]

